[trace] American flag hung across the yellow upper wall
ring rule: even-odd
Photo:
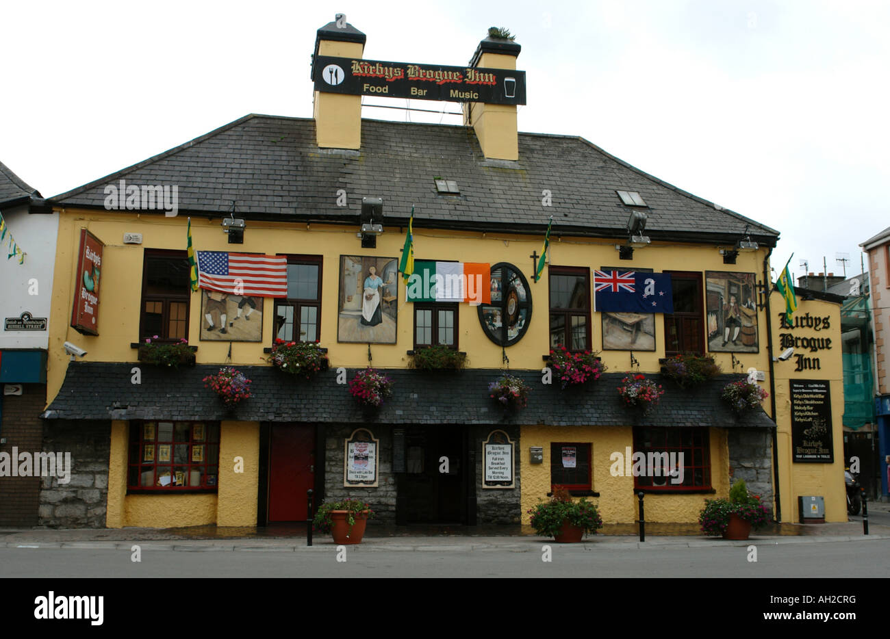
[[[287,297],[287,257],[197,251],[198,286],[234,295]]]

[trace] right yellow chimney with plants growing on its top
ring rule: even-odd
[[[469,67],[481,69],[516,69],[516,57],[522,47],[502,37],[488,36],[476,47]],[[516,106],[467,102],[464,124],[473,125],[476,138],[486,158],[519,159],[519,133]]]

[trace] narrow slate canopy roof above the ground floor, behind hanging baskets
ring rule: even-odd
[[[377,424],[542,424],[773,427],[762,410],[737,419],[720,400],[725,375],[697,391],[665,385],[661,403],[649,417],[624,408],[616,388],[624,374],[604,374],[585,388],[561,391],[541,384],[540,371],[513,371],[530,384],[529,405],[506,415],[488,393],[498,370],[423,373],[384,370],[393,380],[393,395],[368,414],[352,399],[348,385],[336,384],[336,371],[311,381],[295,379],[271,366],[238,367],[252,380],[254,396],[226,412],[201,381],[218,365],[161,369],[142,365],[142,384],[131,384],[132,363],[70,362],[65,382],[44,413],[50,419],[235,419],[267,422]],[[352,379],[353,370],[348,371]],[[654,376],[658,378],[659,376]]]

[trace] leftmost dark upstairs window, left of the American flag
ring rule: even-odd
[[[189,258],[185,251],[146,250],[142,263],[140,341],[189,338]]]

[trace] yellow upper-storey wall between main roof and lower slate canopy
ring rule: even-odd
[[[332,193],[332,198],[335,194]],[[556,197],[556,194],[554,194]],[[407,213],[407,211],[405,212]],[[85,361],[135,361],[136,351],[130,348],[138,342],[140,304],[142,298],[142,263],[145,248],[182,250],[185,248],[184,217],[166,218],[158,214],[110,213],[105,211],[65,210],[61,215],[59,254],[55,264],[56,286],[53,288],[53,310],[50,324],[50,352],[47,376],[47,396],[52,400],[61,387],[68,367],[69,356],[62,349],[65,341],[84,348]],[[106,243],[102,258],[102,295],[99,306],[99,336],[84,336],[69,328],[73,303],[74,269],[77,261],[77,238],[81,227],[88,228]],[[376,249],[363,249],[355,237],[356,227],[313,223],[305,225],[275,222],[247,222],[244,244],[233,246],[226,242],[220,219],[191,221],[192,239],[198,250],[233,250],[243,252],[309,254],[323,256],[321,345],[328,347],[333,366],[357,368],[368,363],[367,344],[339,344],[336,341],[337,303],[339,290],[340,255],[391,256],[398,259],[405,236],[398,227],[388,226],[377,238]],[[124,245],[124,232],[142,233],[142,245]],[[431,231],[415,229],[415,258],[444,259],[461,262],[508,262],[517,266],[530,282],[533,303],[529,330],[522,341],[506,349],[511,368],[540,369],[541,359],[549,350],[549,318],[547,313],[548,280],[532,280],[533,250],[540,250],[540,236],[517,236],[503,233]],[[655,271],[740,271],[762,272],[764,251],[740,253],[738,263],[724,265],[716,247],[653,243],[637,249],[633,261],[621,262],[615,243],[606,240],[559,239],[550,244],[550,263],[560,266],[600,268],[604,265],[651,268]],[[759,276],[758,276],[759,279]],[[240,365],[265,364],[263,347],[272,342],[274,301],[266,298],[263,305],[263,342],[231,344],[231,362]],[[396,344],[372,344],[374,364],[381,368],[407,368],[406,351],[413,348],[413,305],[405,302],[405,285],[399,279],[398,335]],[[459,306],[459,345],[469,355],[472,368],[500,368],[501,349],[484,335],[477,310],[470,304]],[[228,342],[199,342],[200,295],[191,295],[190,343],[198,345],[198,363],[224,363]],[[740,353],[741,364],[736,372],[756,367],[768,370],[766,356],[765,311],[758,313],[759,353]],[[593,313],[593,347],[602,349],[600,313]],[[659,358],[664,357],[664,323],[655,320],[655,352],[637,352],[643,372],[659,370]],[[630,368],[627,351],[602,353],[603,361],[613,372]],[[725,372],[732,371],[730,353],[714,353]],[[768,381],[762,383],[768,386]]]

